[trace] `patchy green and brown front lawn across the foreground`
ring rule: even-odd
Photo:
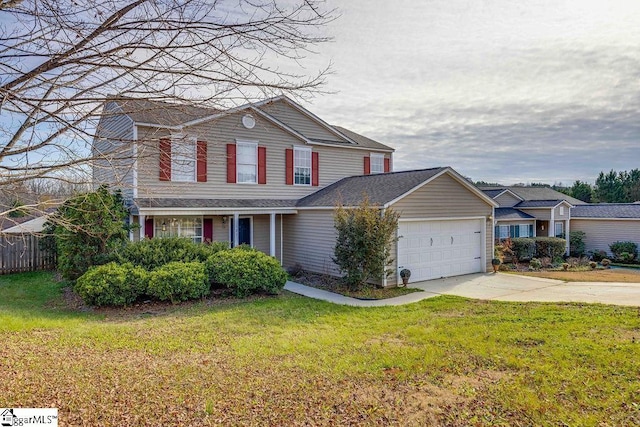
[[[284,293],[65,308],[0,276],[1,405],[60,425],[638,425],[636,308],[438,297],[338,306]]]

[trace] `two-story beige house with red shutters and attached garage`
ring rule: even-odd
[[[112,100],[98,127],[94,183],[123,190],[131,239],[249,244],[284,266],[336,273],[336,203],[367,194],[400,214],[394,274],[486,271],[498,204],[450,168],[392,172],[393,149],[281,96],[218,111]]]

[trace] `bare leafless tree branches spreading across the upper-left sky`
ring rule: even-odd
[[[0,187],[86,174],[109,98],[319,90],[327,69],[302,60],[333,17],[321,0],[0,0]]]

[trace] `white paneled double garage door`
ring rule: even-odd
[[[483,225],[480,219],[400,221],[398,266],[411,270],[412,282],[481,272]]]

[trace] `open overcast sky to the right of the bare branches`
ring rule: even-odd
[[[640,168],[640,1],[328,0],[306,106],[396,148],[395,169],[593,182]]]

